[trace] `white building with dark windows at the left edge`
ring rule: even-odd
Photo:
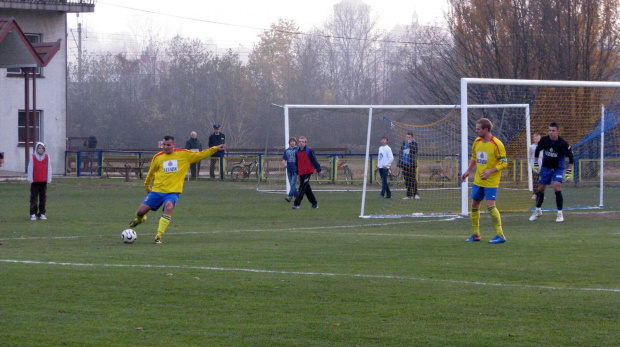
[[[0,0],[0,18],[13,18],[30,42],[56,42],[60,39],[59,51],[47,66],[37,68],[36,76],[37,121],[34,131],[37,141],[46,145],[54,174],[63,174],[65,167],[67,13],[94,10],[95,0]],[[0,42],[0,49],[4,49],[6,55],[12,46]],[[32,111],[32,80],[29,84],[29,109]],[[0,152],[4,152],[4,170],[26,171],[25,90],[24,75],[19,67],[0,67]],[[31,146],[28,152],[32,153]]]

